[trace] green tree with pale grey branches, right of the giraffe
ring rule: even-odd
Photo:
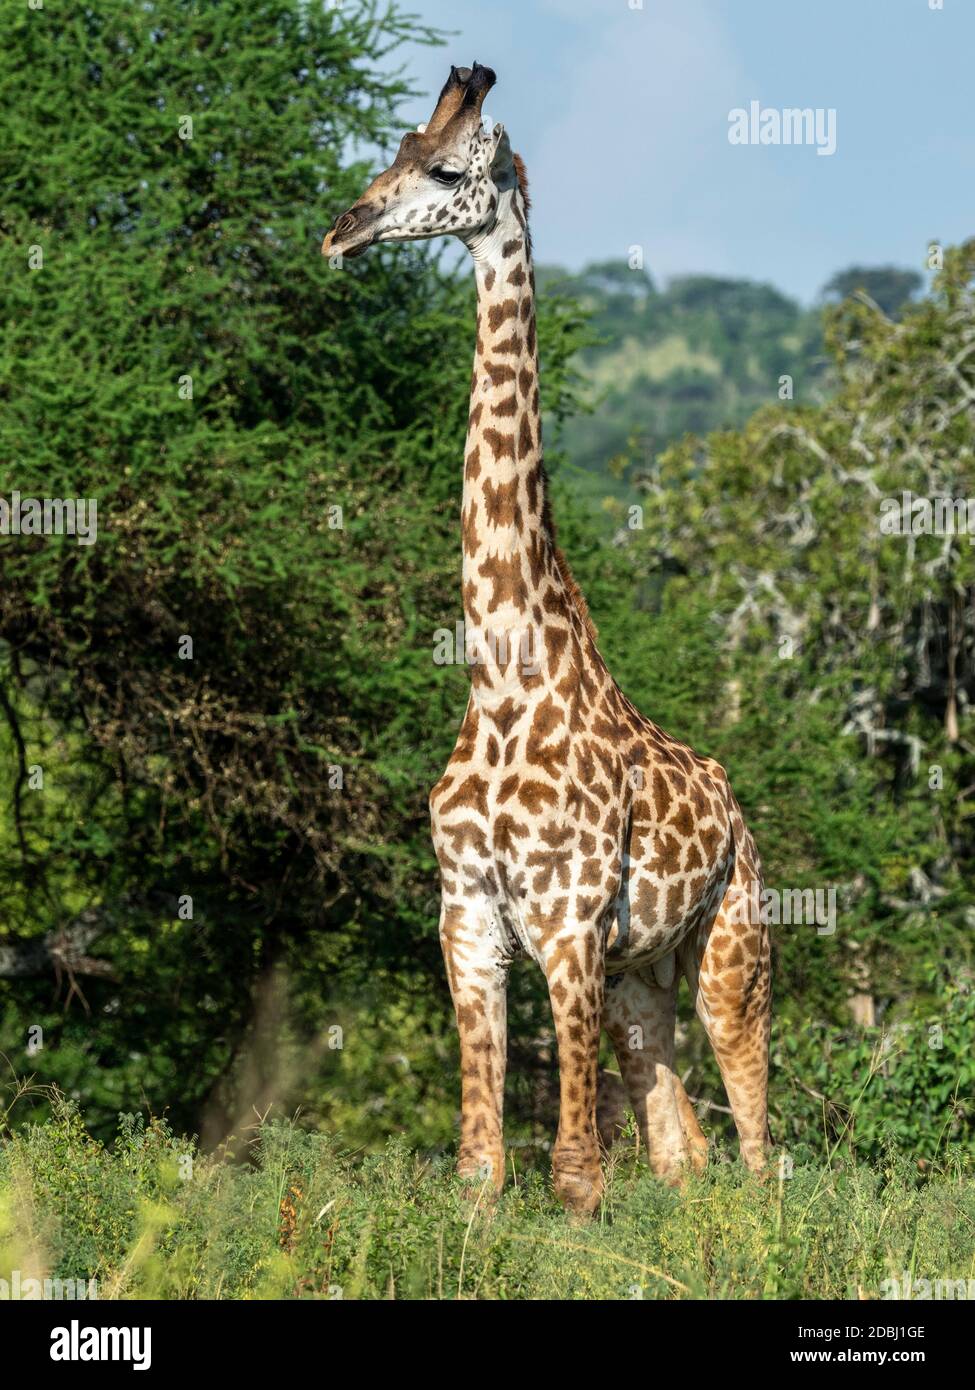
[[[839,306],[836,399],[684,441],[622,532],[665,630],[705,634],[651,669],[709,673],[683,727],[737,771],[772,883],[840,892],[835,941],[779,933],[782,995],[836,1017],[864,991],[910,1006],[969,963],[975,553],[964,528],[883,517],[904,492],[975,495],[974,267],[975,243],[953,250],[900,324]]]

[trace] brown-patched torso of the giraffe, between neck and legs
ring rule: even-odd
[[[570,738],[544,701],[527,714],[469,710],[431,792],[445,902],[529,955],[566,922],[598,924],[609,973],[668,955],[727,880],[719,778],[702,760],[688,774],[666,746],[630,778],[633,748]]]

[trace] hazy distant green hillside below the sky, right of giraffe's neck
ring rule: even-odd
[[[784,375],[803,404],[829,395],[821,306],[804,309],[772,285],[682,275],[658,288],[625,261],[574,275],[540,267],[538,282],[576,296],[598,339],[577,363],[593,414],[576,417],[562,441],[566,482],[594,503],[629,495],[625,464],[647,463],[688,432],[743,425],[779,399]],[[851,267],[819,300],[862,291],[896,317],[921,284],[910,270]]]

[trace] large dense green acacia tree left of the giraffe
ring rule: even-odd
[[[0,538],[0,1045],[42,1024],[26,1065],[95,1122],[195,1125],[275,962],[435,962],[473,296],[319,254],[406,39],[299,0],[6,26],[3,493],[93,498],[97,541]],[[556,413],[574,322],[541,325]]]

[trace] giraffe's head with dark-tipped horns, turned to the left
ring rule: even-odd
[[[451,68],[427,125],[405,135],[396,158],[335,221],[323,256],[360,256],[374,242],[452,234],[467,240],[494,224],[501,190],[515,182],[503,128],[481,126],[491,68]]]

